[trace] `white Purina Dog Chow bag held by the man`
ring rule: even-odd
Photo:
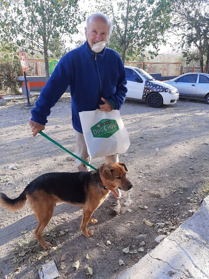
[[[79,112],[87,151],[91,158],[124,153],[130,145],[118,110]]]

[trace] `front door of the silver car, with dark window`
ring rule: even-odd
[[[172,85],[176,87],[180,95],[194,96],[197,92],[198,74],[187,74],[177,78],[172,82]]]

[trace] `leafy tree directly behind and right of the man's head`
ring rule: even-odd
[[[163,34],[170,26],[170,0],[120,0],[115,5],[112,0],[98,0],[98,3],[113,23],[108,46],[120,53],[123,63],[126,56],[140,54],[150,44],[158,51],[159,44],[165,43]],[[149,53],[156,55],[156,51]]]

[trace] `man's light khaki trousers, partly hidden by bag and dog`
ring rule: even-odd
[[[91,163],[91,157],[89,157],[89,154],[87,152],[87,146],[86,146],[86,142],[84,140],[84,136],[83,136],[83,134],[81,134],[77,131],[75,131],[75,151],[76,151],[76,155],[78,157],[80,157],[84,161],[88,162],[89,164]],[[77,162],[78,171],[90,171],[91,170],[90,167],[86,166],[84,163],[82,163],[78,159],[76,159],[76,162]],[[118,154],[105,156],[105,163],[114,163],[114,162],[119,162]],[[120,198],[121,192],[119,189],[118,189],[118,194],[119,194],[119,198]],[[119,198],[116,198],[112,192],[109,193],[109,197],[108,197],[109,201],[113,201],[113,200],[116,200]]]

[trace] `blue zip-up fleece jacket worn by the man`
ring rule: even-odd
[[[101,97],[119,110],[125,101],[126,83],[119,54],[106,47],[96,54],[86,41],[60,59],[31,110],[31,120],[45,125],[50,109],[70,86],[73,128],[82,133],[79,112],[99,108]]]

